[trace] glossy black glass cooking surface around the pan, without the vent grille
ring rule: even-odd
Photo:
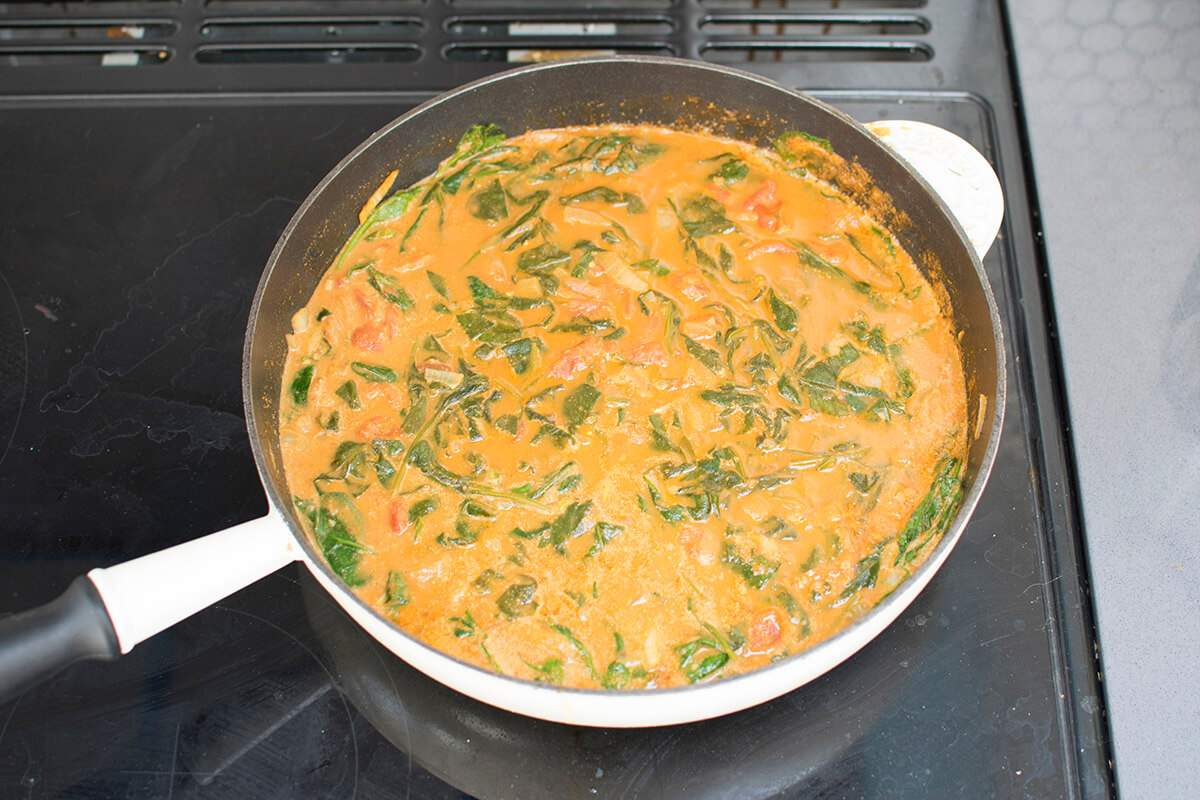
[[[998,160],[989,109],[961,95],[823,98],[940,124]],[[403,110],[0,106],[0,608],[265,512],[240,397],[259,272],[308,191]],[[1012,330],[1004,231],[985,265]],[[1020,390],[1010,374],[989,488],[932,584],[848,662],[763,706],[654,730],[517,717],[418,674],[290,566],[0,705],[0,795],[1066,796]]]

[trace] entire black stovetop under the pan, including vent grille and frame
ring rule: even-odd
[[[833,673],[656,730],[570,728],[466,699],[290,566],[115,662],[0,704],[0,796],[1115,794],[1003,8],[565,8],[0,4],[0,610],[265,512],[240,365],[276,237],[371,132],[546,48],[720,60],[864,121],[936,122],[992,161],[1008,212],[985,267],[1009,399],[950,560]],[[545,26],[563,23],[576,26]]]

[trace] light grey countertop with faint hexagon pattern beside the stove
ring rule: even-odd
[[[1123,798],[1196,796],[1200,2],[1009,4]]]

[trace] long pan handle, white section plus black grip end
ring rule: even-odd
[[[80,576],[58,599],[0,619],[0,702],[82,658],[112,660],[300,558],[274,510]]]

